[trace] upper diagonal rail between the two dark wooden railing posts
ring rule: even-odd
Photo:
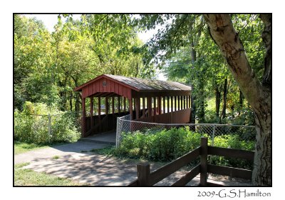
[[[157,169],[152,173],[150,173],[150,180],[149,180],[150,185],[156,184],[158,181],[165,179],[165,177],[174,173],[182,166],[189,164],[190,161],[196,159],[197,156],[199,156],[200,154],[199,152],[200,152],[200,147],[189,152],[188,154],[185,154],[184,156],[181,156],[178,159],[175,159],[175,161],[170,162],[170,164],[162,166],[160,167],[160,169]]]

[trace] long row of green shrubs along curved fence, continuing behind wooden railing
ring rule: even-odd
[[[113,151],[113,154],[149,161],[171,161],[197,148],[201,136],[206,135],[190,131],[189,126],[170,130],[150,130],[145,133],[140,131],[135,131],[133,134],[123,133],[120,146]],[[209,145],[211,144],[212,140],[209,138]],[[224,148],[254,150],[254,141],[241,140],[237,134],[216,136],[214,144]],[[212,156],[211,161],[217,165],[252,169],[252,162],[242,159]]]

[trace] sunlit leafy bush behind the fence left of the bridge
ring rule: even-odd
[[[51,117],[51,136],[48,134],[48,113],[56,114]],[[35,144],[77,141],[80,133],[73,121],[71,116],[56,109],[48,109],[46,104],[27,101],[23,111],[14,111],[14,139]]]

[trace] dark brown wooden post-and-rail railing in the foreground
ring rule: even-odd
[[[207,164],[208,155],[216,156],[227,156],[231,158],[247,159],[249,161],[254,160],[254,151],[244,151],[239,149],[226,149],[215,146],[208,146],[208,139],[202,137],[201,145],[189,153],[181,156],[175,161],[170,162],[160,169],[150,172],[150,164],[138,164],[138,179],[131,182],[129,186],[152,186],[157,182],[165,179],[170,174],[186,166],[198,156],[200,157],[200,163],[195,166],[192,170],[188,171],[187,174],[178,179],[172,186],[185,186],[188,182],[200,174],[199,186],[220,186],[218,184],[212,184],[207,181],[207,173],[220,174],[225,176],[233,176],[242,179],[252,179],[252,171],[247,169],[237,169],[228,166],[216,166]]]

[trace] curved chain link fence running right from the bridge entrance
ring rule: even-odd
[[[251,141],[255,144],[255,126],[229,125],[229,124],[156,124],[142,121],[131,121],[130,115],[117,119],[116,147],[120,145],[123,133],[140,131],[145,133],[150,130],[163,130],[188,126],[191,131],[211,139],[212,146],[224,147],[219,144],[219,137],[236,136],[239,141]]]

